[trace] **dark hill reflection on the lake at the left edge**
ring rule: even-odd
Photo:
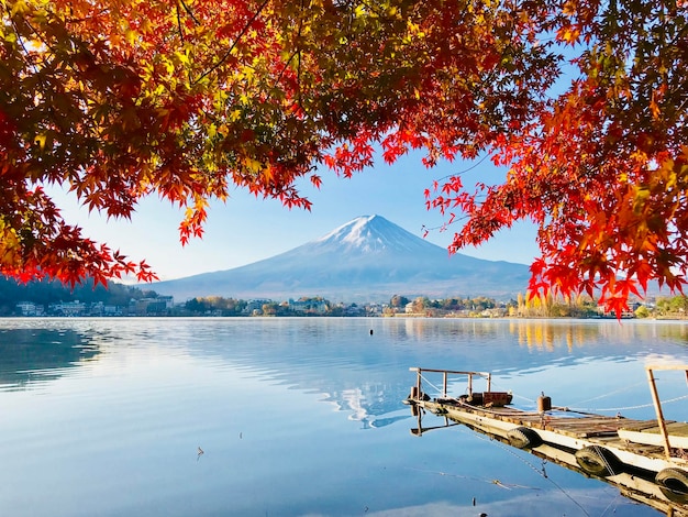
[[[0,389],[29,389],[53,381],[99,353],[74,330],[0,329]]]

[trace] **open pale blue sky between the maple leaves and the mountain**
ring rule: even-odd
[[[275,200],[256,199],[236,189],[225,202],[214,201],[202,240],[186,246],[179,243],[178,224],[181,212],[167,200],[153,196],[138,205],[131,222],[108,221],[79,209],[77,204],[57,193],[56,201],[65,219],[78,224],[85,234],[108,243],[131,260],[146,262],[160,279],[173,279],[211,271],[230,270],[277,255],[318,239],[358,216],[377,213],[404,230],[423,235],[423,226],[440,227],[439,211],[428,211],[423,191],[434,179],[459,173],[470,163],[442,163],[428,169],[420,154],[401,157],[388,166],[381,160],[353,178],[340,178],[323,170],[320,190],[307,185],[302,193],[313,202],[312,210],[289,210]],[[464,175],[464,185],[492,183],[503,177],[489,161]],[[458,229],[458,227],[456,228]],[[454,231],[431,231],[428,241],[446,248]],[[492,261],[503,260],[530,264],[539,254],[535,229],[521,223],[501,232],[480,248],[463,251],[466,255]]]

